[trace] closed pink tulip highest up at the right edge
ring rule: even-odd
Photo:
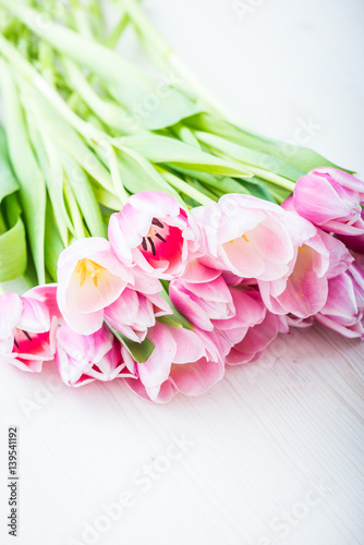
[[[293,206],[300,216],[338,234],[364,234],[361,202],[364,182],[330,167],[300,178],[293,192]]]

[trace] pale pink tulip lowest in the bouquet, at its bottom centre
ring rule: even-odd
[[[148,338],[155,344],[144,363],[136,363],[129,353],[124,359],[135,378],[128,386],[145,399],[169,401],[177,392],[199,396],[222,378],[225,365],[214,334],[187,330],[157,323]]]

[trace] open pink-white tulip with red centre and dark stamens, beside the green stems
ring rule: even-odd
[[[190,214],[169,194],[145,191],[132,195],[109,222],[109,239],[128,267],[170,280],[180,276],[196,252],[198,231]]]

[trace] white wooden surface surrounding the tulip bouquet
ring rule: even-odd
[[[236,121],[282,140],[314,124],[306,144],[364,175],[361,0],[145,7]],[[3,367],[0,543],[363,544],[363,355],[360,341],[324,328],[296,331],[258,364],[228,370],[207,395],[168,405],[139,400],[120,382],[72,390],[51,370]],[[16,540],[5,529],[12,424]],[[184,451],[171,446],[182,436]],[[141,482],[148,464],[155,477]],[[123,492],[133,505],[108,524],[102,506]],[[83,536],[86,522],[98,532]]]

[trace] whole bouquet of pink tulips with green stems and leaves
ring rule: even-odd
[[[31,288],[0,296],[2,361],[166,402],[291,327],[364,337],[351,171],[229,122],[135,0],[111,29],[98,0],[0,8],[0,281]]]

